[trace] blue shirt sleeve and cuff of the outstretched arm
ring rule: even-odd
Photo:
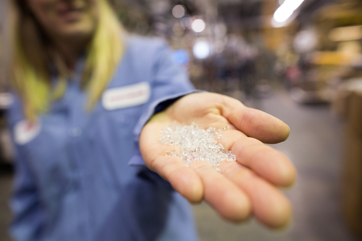
[[[182,96],[200,92],[200,90],[194,89],[186,69],[173,61],[171,48],[166,42],[161,43],[156,52],[151,88],[150,105],[140,117],[133,131],[137,147],[139,147],[139,135],[143,126],[155,113],[163,111]],[[136,150],[137,152],[132,156],[129,164],[145,165],[139,148]]]

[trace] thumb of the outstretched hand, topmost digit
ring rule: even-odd
[[[264,143],[279,143],[289,137],[290,129],[283,121],[263,111],[245,107],[236,99],[224,96],[222,115],[248,137]]]

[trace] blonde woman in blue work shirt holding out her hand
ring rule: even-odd
[[[232,221],[288,222],[277,187],[295,170],[262,143],[288,137],[282,121],[196,93],[167,45],[127,36],[106,0],[14,0],[13,10],[16,240],[197,240],[186,199]],[[238,162],[220,174],[165,156],[155,140],[173,121],[230,125],[222,143]]]

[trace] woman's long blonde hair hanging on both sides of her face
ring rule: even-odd
[[[88,111],[97,103],[124,51],[121,24],[107,0],[98,3],[98,23],[86,49],[81,78],[81,86],[88,95]],[[12,10],[11,84],[22,100],[25,117],[35,120],[49,110],[53,100],[62,98],[68,70],[59,55],[52,53],[47,36],[21,0],[13,2]],[[59,76],[55,87],[51,83],[50,64],[56,66]]]

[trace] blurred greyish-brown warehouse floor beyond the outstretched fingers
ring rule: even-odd
[[[227,92],[245,99],[238,92]],[[295,103],[280,88],[263,98],[246,99],[247,106],[268,112],[286,122],[289,139],[274,147],[284,152],[298,170],[295,185],[284,190],[294,207],[290,227],[271,231],[255,220],[231,224],[222,220],[206,203],[194,206],[201,241],[357,241],[342,220],[340,210],[340,167],[343,122],[331,114],[328,105]],[[12,174],[0,172],[0,241],[9,241],[10,219],[7,199]]]

